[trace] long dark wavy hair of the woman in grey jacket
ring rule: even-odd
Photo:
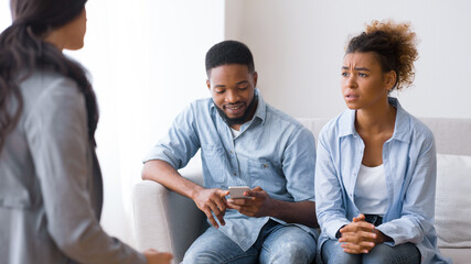
[[[19,84],[34,69],[53,70],[76,81],[85,96],[88,136],[96,145],[98,107],[85,70],[53,44],[43,41],[51,30],[77,18],[85,3],[86,0],[10,1],[13,23],[0,34],[0,152],[23,110]]]

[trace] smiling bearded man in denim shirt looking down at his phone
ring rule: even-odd
[[[143,179],[186,196],[212,224],[183,263],[312,263],[318,227],[312,133],[265,103],[246,45],[206,54],[212,98],[193,102],[144,160]],[[183,178],[201,147],[204,186]],[[248,198],[226,199],[229,186]]]

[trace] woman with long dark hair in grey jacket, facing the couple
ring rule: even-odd
[[[99,226],[98,110],[84,69],[86,0],[12,0],[0,35],[0,263],[170,263]]]

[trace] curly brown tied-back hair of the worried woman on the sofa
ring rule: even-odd
[[[375,53],[383,72],[396,72],[393,89],[400,90],[414,81],[414,62],[418,58],[416,45],[416,33],[411,31],[410,23],[374,20],[362,34],[349,42],[345,54]]]

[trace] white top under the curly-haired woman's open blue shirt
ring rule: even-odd
[[[383,217],[387,210],[386,176],[383,164],[366,167],[362,164],[354,190],[355,205],[360,212]]]

